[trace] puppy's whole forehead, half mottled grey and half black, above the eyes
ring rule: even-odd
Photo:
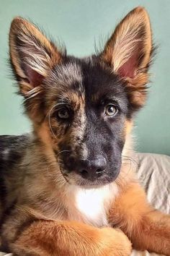
[[[99,101],[104,95],[120,97],[122,87],[119,80],[109,69],[102,66],[98,59],[70,58],[57,65],[50,75],[50,86],[53,85],[51,95],[58,98],[67,98],[68,101],[76,101],[79,98],[84,101]]]

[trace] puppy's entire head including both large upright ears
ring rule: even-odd
[[[128,124],[146,98],[151,52],[140,7],[101,53],[84,59],[66,56],[30,22],[12,22],[11,61],[25,109],[67,182],[88,187],[117,178]]]

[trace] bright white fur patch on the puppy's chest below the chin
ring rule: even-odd
[[[93,226],[108,226],[107,209],[118,193],[116,184],[96,189],[77,188],[74,192],[75,210],[73,219],[90,223]]]

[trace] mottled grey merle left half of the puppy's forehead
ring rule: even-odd
[[[49,101],[79,103],[84,98],[81,67],[75,61],[65,61],[56,65],[45,80],[46,98]]]

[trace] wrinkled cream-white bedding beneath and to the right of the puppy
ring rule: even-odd
[[[134,163],[140,183],[146,189],[149,202],[170,214],[170,157],[166,155],[135,153]],[[0,252],[0,256],[12,256]],[[155,256],[155,253],[137,252],[131,256]],[[21,255],[22,256],[22,255]],[[158,256],[158,255],[157,255]]]

